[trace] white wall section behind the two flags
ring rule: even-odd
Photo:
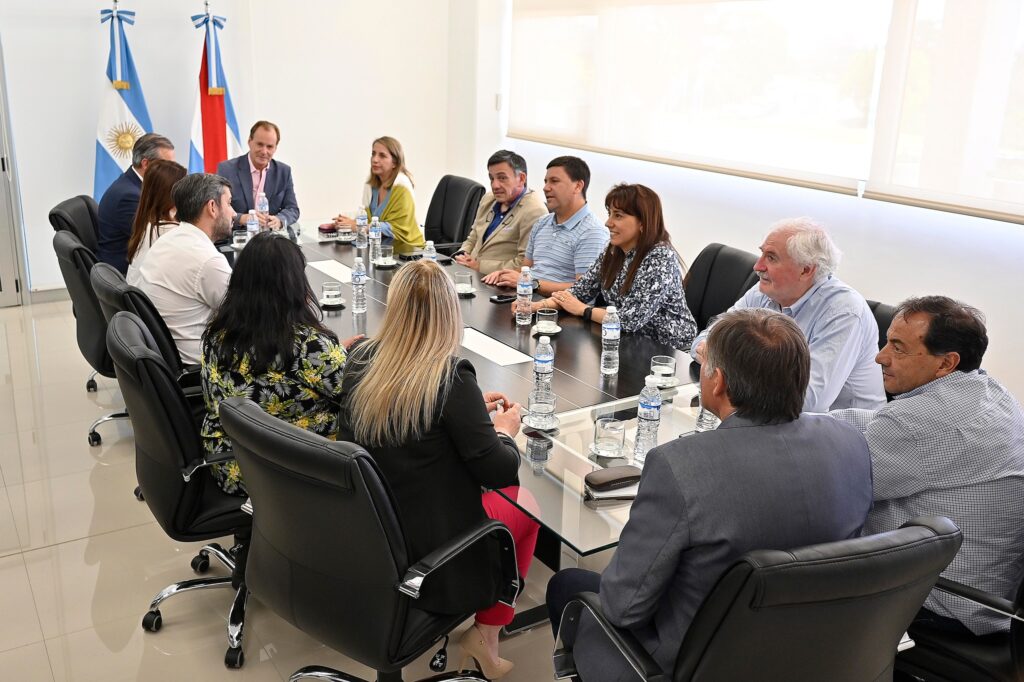
[[[248,0],[217,0],[228,17],[222,35],[225,70],[240,116],[251,111]],[[15,172],[20,187],[25,248],[32,291],[63,287],[46,219],[59,201],[92,194],[96,122],[110,43],[99,10],[110,3],[34,0],[0,3]],[[129,0],[137,12],[128,28],[132,56],[142,81],[150,118],[158,132],[188,159],[203,32],[189,15],[201,2]]]

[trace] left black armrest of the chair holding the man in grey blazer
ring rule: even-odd
[[[601,610],[601,600],[593,592],[581,592],[572,597],[562,611],[561,625],[558,628],[558,636],[555,638],[555,651],[552,654],[552,662],[555,665],[555,679],[562,680],[577,675],[575,660],[572,657],[572,646],[562,643],[564,637],[575,640],[575,630],[580,626],[580,613],[586,608],[601,626],[605,636],[615,646],[618,653],[626,658],[639,679],[646,682],[669,682],[669,677],[662,671],[660,666],[651,657],[647,649],[643,648],[636,636],[628,630],[622,630],[611,625],[604,612]],[[561,646],[559,646],[561,644]]]

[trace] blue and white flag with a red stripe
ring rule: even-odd
[[[199,92],[193,115],[191,140],[188,146],[189,173],[216,173],[217,164],[241,156],[242,136],[234,104],[220,61],[220,41],[217,33],[227,20],[209,10],[191,17],[197,29],[206,29],[203,59],[199,69]]]

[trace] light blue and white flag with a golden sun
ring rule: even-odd
[[[135,12],[103,9],[100,24],[111,23],[111,52],[99,124],[96,126],[96,173],[92,196],[98,202],[111,183],[131,165],[135,140],[153,132],[142,85],[128,49],[124,25],[135,23]]]

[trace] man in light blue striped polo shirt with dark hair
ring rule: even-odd
[[[608,228],[587,205],[590,168],[578,157],[558,157],[548,164],[544,198],[551,211],[536,223],[522,264],[528,265],[534,288],[543,296],[568,289],[590,269],[608,243]],[[519,270],[502,269],[484,284],[515,287]]]

